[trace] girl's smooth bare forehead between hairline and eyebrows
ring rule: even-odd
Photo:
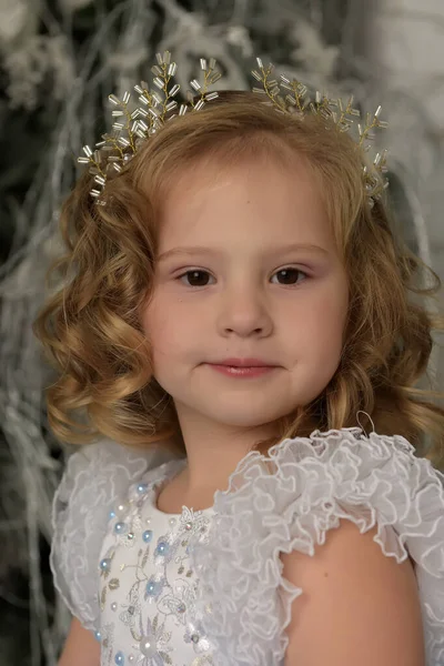
[[[170,245],[240,246],[301,242],[331,244],[331,225],[316,181],[303,164],[272,161],[196,165],[164,200],[161,251]]]

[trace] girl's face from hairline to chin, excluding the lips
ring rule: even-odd
[[[339,365],[349,290],[302,159],[190,169],[159,233],[143,327],[179,420],[260,427],[315,398]],[[252,379],[212,367],[228,357],[275,367]]]

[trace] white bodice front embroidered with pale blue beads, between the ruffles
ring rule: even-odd
[[[101,666],[213,664],[194,607],[189,541],[206,543],[214,512],[161,512],[157,497],[169,476],[167,465],[162,478],[131,486],[110,514],[99,564]]]

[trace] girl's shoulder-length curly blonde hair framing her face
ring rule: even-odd
[[[444,330],[424,299],[438,292],[440,278],[395,233],[387,203],[369,205],[363,157],[347,134],[327,130],[315,115],[278,113],[250,92],[222,93],[199,112],[168,122],[109,178],[107,205],[92,200],[89,173],[65,201],[67,253],[50,270],[59,289],[34,323],[58,371],[47,401],[60,440],[88,443],[105,435],[130,446],[163,442],[184,452],[173,401],[153,376],[140,316],[153,291],[162,201],[174,179],[202,158],[235,163],[265,153],[291,169],[292,151],[321,179],[349,275],[349,317],[329,385],[255,448],[266,452],[315,428],[354,426],[356,413],[365,411],[376,432],[405,436],[442,467],[444,408],[437,402],[444,394],[417,386],[426,376],[432,332]],[[432,284],[425,285],[427,275]]]

